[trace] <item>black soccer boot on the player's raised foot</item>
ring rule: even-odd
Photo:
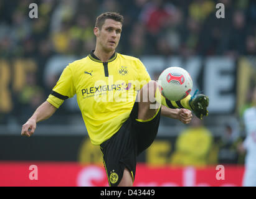
[[[206,95],[197,95],[195,98],[189,101],[189,104],[197,118],[202,119],[203,116],[208,115],[207,106],[209,106],[209,98]]]

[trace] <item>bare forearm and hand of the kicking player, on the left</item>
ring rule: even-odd
[[[36,123],[50,118],[55,113],[57,108],[52,106],[48,101],[42,103],[35,111],[35,113],[23,124],[21,135],[30,137],[36,130]]]

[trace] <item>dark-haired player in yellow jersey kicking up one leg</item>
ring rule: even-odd
[[[21,131],[31,136],[37,122],[52,116],[65,99],[76,94],[90,140],[102,150],[110,186],[133,185],[136,157],[154,141],[160,114],[188,124],[189,109],[202,119],[208,106],[204,95],[189,95],[181,101],[163,98],[158,83],[151,81],[138,58],[115,51],[122,23],[123,16],[115,12],[97,17],[95,50],[64,69],[49,98]]]

